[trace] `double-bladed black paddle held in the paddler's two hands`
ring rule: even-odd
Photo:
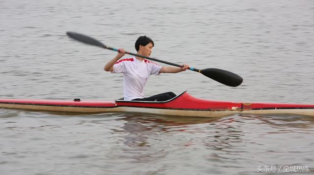
[[[96,40],[94,38],[91,38],[89,36],[86,36],[86,35],[82,35],[82,34],[79,34],[79,33],[76,33],[76,32],[67,32],[67,35],[69,37],[71,37],[71,38],[73,38],[73,39],[75,39],[75,40],[77,40],[79,42],[85,43],[85,44],[91,44],[91,45],[99,46],[99,47],[102,47],[102,48],[118,51],[117,48],[106,46],[105,44],[99,42],[98,40]],[[182,65],[177,65],[177,64],[174,64],[174,63],[158,60],[156,58],[146,57],[146,56],[138,55],[138,54],[131,53],[131,52],[126,52],[126,53],[130,54],[130,55],[138,56],[138,57],[141,57],[141,58],[146,58],[146,59],[149,59],[149,60],[153,60],[153,61],[156,61],[156,62],[164,63],[164,64],[167,64],[167,65],[182,67]],[[193,68],[193,67],[188,67],[188,69],[196,71],[196,72],[200,72],[203,75],[205,75],[205,76],[207,76],[207,77],[209,77],[209,78],[211,78],[211,79],[213,79],[213,80],[215,80],[215,81],[217,81],[219,83],[222,83],[224,85],[231,86],[231,87],[237,87],[243,81],[242,77],[236,75],[235,73],[229,72],[227,70],[222,70],[222,69],[217,69],[217,68],[206,68],[206,69],[200,70],[200,69]]]

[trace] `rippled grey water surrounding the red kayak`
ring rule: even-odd
[[[147,35],[153,57],[244,79],[227,87],[191,71],[161,74],[150,77],[147,96],[188,90],[213,100],[314,104],[312,0],[0,0],[0,23],[0,98],[120,98],[122,75],[103,71],[116,53],[65,35],[76,31],[131,52]],[[276,166],[280,173],[268,174],[280,175],[298,165],[311,174],[313,134],[313,117],[296,115],[0,109],[0,174],[252,175]]]

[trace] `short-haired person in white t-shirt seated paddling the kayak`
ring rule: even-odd
[[[149,57],[153,47],[153,40],[146,36],[139,37],[135,42],[135,49],[138,55]],[[159,66],[137,56],[120,60],[125,53],[125,49],[120,48],[118,54],[104,67],[105,71],[110,71],[111,73],[123,73],[124,100],[166,101],[176,96],[173,92],[166,92],[145,98],[144,87],[150,75],[185,71],[188,65],[183,64],[183,67]]]

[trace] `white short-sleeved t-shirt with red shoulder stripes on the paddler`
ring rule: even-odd
[[[116,62],[111,73],[123,73],[124,100],[133,100],[144,98],[144,87],[149,76],[158,74],[161,67],[146,59],[140,61],[132,57]]]

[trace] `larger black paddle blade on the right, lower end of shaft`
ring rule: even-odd
[[[230,87],[237,87],[243,82],[243,78],[235,73],[218,68],[207,68],[201,70],[201,73],[219,83]]]

